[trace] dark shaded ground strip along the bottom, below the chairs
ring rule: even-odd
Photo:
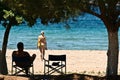
[[[66,75],[34,75],[28,78],[30,80],[120,80],[120,76],[100,77],[76,73]]]

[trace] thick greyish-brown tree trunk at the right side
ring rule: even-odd
[[[118,28],[115,26],[108,29],[108,52],[107,52],[107,76],[115,77],[118,71],[119,42]]]

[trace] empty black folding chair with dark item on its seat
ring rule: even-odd
[[[66,55],[49,55],[48,60],[44,60],[44,75],[55,72],[66,74]]]

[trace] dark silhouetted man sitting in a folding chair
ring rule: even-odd
[[[25,68],[26,75],[28,75],[28,70],[35,60],[36,55],[33,54],[30,56],[28,52],[24,51],[24,44],[22,42],[17,44],[17,48],[18,50],[12,53],[13,60],[15,60],[18,67]],[[22,58],[22,60],[18,60],[19,58]]]

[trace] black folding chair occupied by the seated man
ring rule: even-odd
[[[18,64],[26,65],[28,63],[29,58],[28,57],[16,57],[12,56],[12,75],[18,75],[20,73],[25,74],[25,69],[28,68],[28,75],[34,75],[34,66],[33,63],[31,63],[29,66],[18,66]]]

